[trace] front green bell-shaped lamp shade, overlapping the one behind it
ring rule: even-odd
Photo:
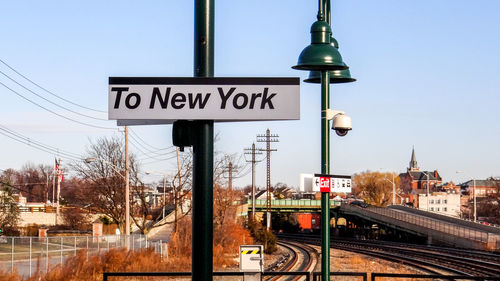
[[[338,49],[330,43],[331,36],[332,29],[328,23],[314,22],[311,26],[311,44],[300,53],[297,65],[292,68],[316,71],[348,69]]]

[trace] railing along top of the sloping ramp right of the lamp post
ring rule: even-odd
[[[360,208],[357,206],[351,206],[345,204],[342,205],[342,208],[360,212],[376,213],[385,217],[403,221],[405,223],[418,225],[421,227],[425,227],[427,229],[432,229],[435,231],[443,232],[453,236],[463,237],[470,240],[479,241],[482,243],[489,243],[489,242],[491,243],[492,241],[496,242],[498,240],[497,239],[498,235],[494,233],[475,230],[472,228],[455,225],[449,222],[439,221],[437,219],[427,218],[416,214],[404,213],[387,208],[381,208],[381,207]]]

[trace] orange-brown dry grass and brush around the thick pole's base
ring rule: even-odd
[[[82,250],[70,257],[62,265],[49,272],[36,273],[31,278],[22,278],[16,272],[0,269],[0,281],[98,281],[103,272],[177,272],[191,271],[191,222],[186,219],[179,223],[178,231],[168,245],[168,259],[152,250],[128,251],[111,249],[101,255],[89,256]],[[222,270],[235,264],[239,245],[252,244],[249,232],[237,223],[226,223],[214,230],[214,269]],[[130,279],[127,277],[115,280],[151,280],[145,278]]]

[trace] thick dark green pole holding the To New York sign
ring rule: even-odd
[[[214,0],[194,3],[194,76],[214,76]],[[193,122],[192,280],[213,279],[214,121]]]

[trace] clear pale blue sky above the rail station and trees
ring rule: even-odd
[[[332,7],[334,37],[358,79],[331,87],[331,107],[346,111],[354,127],[344,138],[332,135],[332,173],[402,172],[415,146],[421,169],[439,170],[444,181],[468,178],[456,170],[500,176],[500,1],[341,0]],[[0,59],[65,99],[106,110],[109,76],[192,76],[193,9],[186,0],[8,1]],[[216,1],[215,75],[306,78],[290,67],[310,43],[316,12],[317,1]],[[59,105],[107,117],[32,87],[3,64],[0,71]],[[58,114],[116,128],[114,121],[65,112],[1,74],[0,82]],[[300,121],[216,124],[217,149],[241,153],[269,128],[280,135],[272,183],[297,186],[299,173],[320,171],[319,93],[318,85],[301,84]],[[2,85],[0,94],[0,125],[61,150],[82,154],[89,139],[119,134],[55,116]],[[172,145],[171,126],[133,131],[151,146]],[[1,169],[53,164],[53,153],[3,135],[0,146]],[[143,170],[170,173],[173,161]],[[263,186],[264,163],[257,177]],[[249,183],[248,175],[235,184]]]

